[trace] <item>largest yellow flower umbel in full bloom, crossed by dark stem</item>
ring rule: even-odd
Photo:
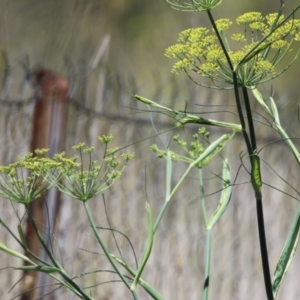
[[[233,72],[236,72],[238,86],[254,87],[280,75],[297,58],[299,51],[283,71],[275,72],[292,42],[300,40],[300,20],[287,21],[277,13],[263,17],[259,12],[249,12],[239,16],[236,23],[243,27],[242,32],[228,37],[232,22],[229,19],[215,22],[223,48],[214,30],[199,27],[182,31],[180,43],[165,52],[167,57],[179,59],[172,72],[186,72],[196,81],[190,75],[193,71],[211,79],[211,88],[231,88],[228,85],[234,84]]]

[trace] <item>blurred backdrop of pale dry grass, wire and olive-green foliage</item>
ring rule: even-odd
[[[286,13],[295,7],[296,0],[287,0]],[[218,18],[232,18],[248,11],[263,14],[276,12],[280,1],[223,0],[213,10]],[[145,201],[157,214],[164,201],[165,162],[149,152],[149,146],[158,143],[163,148],[172,135],[180,133],[187,138],[198,130],[196,125],[184,130],[171,130],[172,120],[153,114],[153,128],[147,107],[134,100],[138,93],[175,109],[205,114],[205,117],[238,122],[231,91],[212,91],[195,86],[184,74],[173,75],[174,61],[164,56],[164,50],[176,43],[178,33],[186,28],[209,26],[205,13],[183,13],[172,10],[163,0],[89,0],[89,1],[4,1],[0,0],[0,47],[7,53],[0,62],[2,93],[0,98],[0,162],[5,165],[30,151],[32,119],[35,105],[34,89],[26,75],[28,69],[49,68],[70,79],[68,100],[67,137],[65,150],[73,155],[71,146],[86,142],[95,146],[99,158],[103,155],[97,136],[112,133],[112,146],[134,151],[136,158],[112,189],[90,201],[98,226],[112,228],[126,234],[131,240],[138,259],[146,235]],[[299,13],[298,13],[299,17]],[[299,45],[294,45],[294,53]],[[290,61],[287,57],[282,65]],[[8,66],[9,64],[9,72]],[[279,66],[280,67],[280,66]],[[9,74],[8,74],[9,73]],[[274,91],[282,123],[289,135],[299,137],[298,121],[299,61],[281,77],[264,84],[260,90],[266,96]],[[262,111],[253,100],[257,120]],[[220,107],[220,105],[222,105]],[[40,126],[43,126],[40,125]],[[265,163],[262,163],[265,195],[265,218],[270,266],[273,272],[289,230],[295,208],[299,166],[285,144],[267,126],[257,123],[258,145]],[[170,129],[156,137],[156,132]],[[211,141],[226,130],[207,128]],[[175,146],[171,143],[172,146]],[[240,153],[245,151],[241,136],[228,146],[224,155],[229,158],[232,180],[241,164]],[[247,158],[245,164],[247,166]],[[218,204],[222,183],[215,174],[221,172],[222,160],[217,159],[205,168],[208,209],[213,212]],[[271,169],[269,166],[274,168]],[[175,164],[173,183],[185,169]],[[281,180],[282,176],[287,182]],[[249,185],[249,176],[242,169],[236,180],[228,210],[213,231],[212,274],[210,299],[265,299],[261,260],[256,227],[255,201]],[[272,187],[269,187],[271,185]],[[295,190],[296,189],[296,190]],[[288,195],[282,193],[282,191]],[[205,228],[199,202],[197,174],[178,191],[155,236],[153,253],[143,278],[161,292],[166,299],[201,299],[204,272]],[[296,199],[293,199],[292,195]],[[1,218],[16,232],[19,206],[0,200]],[[56,253],[65,268],[78,282],[89,287],[95,299],[130,299],[122,283],[111,282],[117,277],[111,273],[102,251],[91,237],[91,231],[81,203],[63,197],[55,233]],[[101,231],[111,251],[117,247],[108,231]],[[120,235],[118,243],[134,265],[128,242]],[[0,228],[0,240],[19,249],[8,232]],[[21,263],[1,253],[2,268]],[[299,299],[300,287],[297,252],[278,299]],[[1,270],[1,299],[18,297],[20,284],[14,284],[22,273],[12,269]],[[150,299],[141,291],[141,299]],[[20,298],[21,299],[21,298]],[[52,299],[76,299],[65,290],[52,294]]]

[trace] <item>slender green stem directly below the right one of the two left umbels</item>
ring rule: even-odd
[[[116,264],[115,261],[112,259],[111,254],[109,253],[108,249],[106,248],[104,242],[103,242],[102,239],[101,239],[101,236],[100,236],[100,234],[99,234],[99,232],[98,232],[98,230],[97,230],[96,224],[95,224],[95,222],[94,222],[93,216],[92,216],[92,214],[91,214],[90,208],[89,208],[89,206],[88,206],[88,204],[87,204],[87,201],[83,201],[83,205],[84,205],[84,209],[85,209],[85,212],[86,212],[86,214],[87,214],[87,217],[88,217],[88,219],[89,219],[89,222],[90,222],[90,224],[91,224],[91,226],[92,226],[92,229],[93,229],[93,232],[94,232],[94,234],[95,234],[95,237],[96,237],[97,241],[99,242],[99,244],[100,244],[100,246],[101,246],[103,252],[105,253],[107,259],[109,260],[109,262],[111,263],[112,267],[113,267],[114,270],[117,272],[117,274],[119,275],[119,277],[121,278],[121,280],[124,282],[124,284],[126,285],[126,287],[131,291],[129,282],[127,281],[127,279],[124,277],[124,275],[123,275],[123,274],[121,273],[121,271],[119,270],[117,264]],[[135,300],[138,300],[138,299],[139,299],[139,297],[138,297],[138,295],[137,295],[137,293],[136,293],[135,291],[131,291],[131,293],[132,293],[133,298],[134,298]]]

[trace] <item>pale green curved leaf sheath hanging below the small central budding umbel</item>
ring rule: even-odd
[[[227,159],[225,159],[223,162],[222,178],[223,178],[223,191],[220,198],[220,202],[208,223],[207,230],[211,230],[215,226],[215,224],[219,221],[219,219],[225,212],[226,207],[231,198],[232,186],[230,184],[230,169],[228,166]]]

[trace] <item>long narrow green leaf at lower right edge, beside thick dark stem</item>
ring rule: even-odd
[[[280,284],[287,273],[287,270],[291,264],[291,261],[294,257],[295,251],[298,246],[299,241],[299,233],[300,233],[300,205],[298,206],[297,212],[295,214],[293,223],[291,225],[288,237],[283,246],[283,250],[281,252],[279,261],[277,263],[273,280],[272,280],[272,288],[273,295],[276,297]]]

